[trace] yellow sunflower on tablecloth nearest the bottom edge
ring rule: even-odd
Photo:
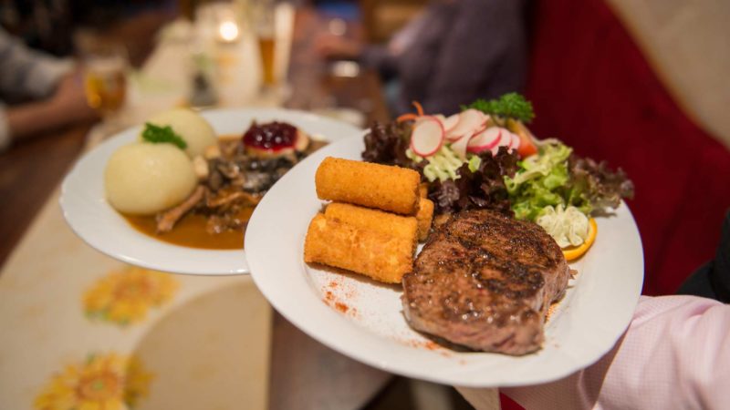
[[[135,356],[91,354],[53,374],[36,396],[36,410],[124,410],[149,394],[154,375]]]

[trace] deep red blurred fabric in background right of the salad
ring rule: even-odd
[[[714,256],[730,208],[730,151],[687,118],[604,1],[535,5],[532,128],[628,173],[643,292],[673,293]]]

